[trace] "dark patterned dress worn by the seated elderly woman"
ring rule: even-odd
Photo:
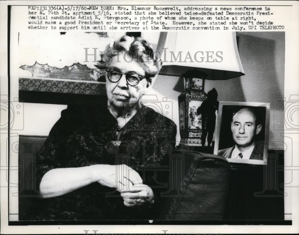
[[[45,151],[36,157],[36,185],[54,168],[94,164],[126,164],[152,188],[155,203],[128,208],[120,193],[95,182],[71,193],[36,203],[39,220],[155,219],[161,211],[161,191],[167,191],[167,151],[174,147],[176,125],[153,109],[141,105],[117,137],[117,121],[107,101],[68,106],[51,129]],[[119,145],[119,146],[118,146]],[[63,180],[63,179],[62,179]]]

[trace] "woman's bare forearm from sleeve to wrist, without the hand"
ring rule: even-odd
[[[94,171],[100,165],[77,168],[57,168],[45,173],[39,189],[43,198],[61,196],[98,181]]]

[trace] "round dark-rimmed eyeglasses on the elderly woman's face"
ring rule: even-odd
[[[116,69],[106,69],[106,71],[107,71],[107,77],[110,82],[116,83],[120,80],[120,78],[123,75],[126,75],[126,81],[132,87],[138,85],[138,83],[142,79],[147,78],[147,76],[141,76],[134,72],[121,73],[119,70],[116,70]]]

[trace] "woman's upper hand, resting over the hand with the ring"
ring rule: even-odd
[[[127,165],[95,165],[96,181],[119,192],[130,191],[135,184],[142,184],[140,175]]]

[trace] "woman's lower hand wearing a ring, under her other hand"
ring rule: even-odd
[[[130,191],[120,193],[120,196],[123,197],[123,204],[125,206],[134,207],[151,203],[154,198],[154,193],[149,186],[138,184],[133,185]]]

